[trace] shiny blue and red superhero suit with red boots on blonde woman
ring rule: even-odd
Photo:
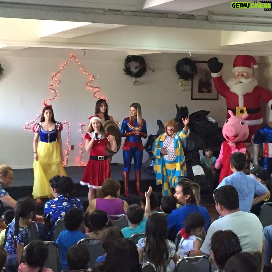
[[[135,135],[136,131],[140,131],[139,135]],[[147,137],[146,121],[142,119],[142,124],[138,126],[136,119],[129,121],[129,117],[127,117],[123,120],[120,132],[122,137],[126,137],[123,144],[123,181],[125,187],[124,195],[129,197],[128,179],[132,158],[134,160],[135,169],[136,195],[142,195],[142,192],[140,191],[141,165],[143,160],[142,137],[144,139]]]

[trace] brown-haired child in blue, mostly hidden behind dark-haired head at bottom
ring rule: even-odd
[[[101,234],[101,245],[104,249],[104,251],[107,254],[107,250],[109,247],[111,247],[113,245],[113,243],[115,243],[116,241],[120,240],[124,238],[122,231],[120,230],[120,228],[113,226],[113,227],[109,227],[106,228],[105,230],[103,230],[102,234]],[[99,262],[104,262],[106,259],[106,254],[105,255],[101,255],[96,259],[96,264]]]

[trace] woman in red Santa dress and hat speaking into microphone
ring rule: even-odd
[[[114,136],[107,133],[98,115],[90,116],[90,124],[85,134],[85,149],[90,151],[90,159],[83,173],[81,185],[89,187],[89,203],[95,196],[95,190],[101,188],[104,180],[110,178],[110,162],[107,156],[107,143],[113,152],[117,145]]]

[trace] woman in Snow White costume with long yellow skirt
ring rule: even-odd
[[[51,105],[44,104],[41,120],[33,126],[34,185],[33,198],[38,204],[41,197],[51,198],[49,180],[55,175],[67,176],[62,162],[61,122],[56,122]],[[40,142],[38,142],[40,137]]]

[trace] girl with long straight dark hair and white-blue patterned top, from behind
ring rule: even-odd
[[[139,261],[147,261],[156,266],[158,272],[169,272],[171,259],[176,263],[179,259],[175,253],[175,244],[167,239],[167,221],[165,215],[153,213],[146,221],[146,237],[137,244]]]

